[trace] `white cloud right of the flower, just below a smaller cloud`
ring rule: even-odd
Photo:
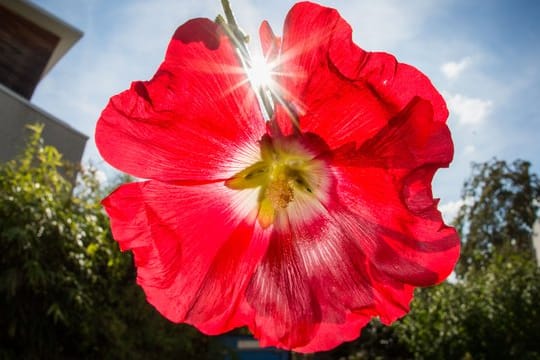
[[[480,125],[493,108],[491,100],[467,97],[462,94],[444,94],[450,114],[457,117],[461,125]]]

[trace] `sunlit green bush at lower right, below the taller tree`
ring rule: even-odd
[[[396,326],[418,359],[540,359],[540,269],[494,256],[456,284],[419,289]]]

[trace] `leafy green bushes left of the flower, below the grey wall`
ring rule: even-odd
[[[74,189],[42,127],[31,130],[21,157],[0,164],[0,358],[215,358],[212,340],[146,303],[95,171]]]

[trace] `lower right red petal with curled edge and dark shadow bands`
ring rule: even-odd
[[[414,286],[434,285],[450,274],[459,238],[444,225],[431,195],[434,168],[405,178],[375,168],[343,167],[336,173],[341,217],[362,228],[359,246],[376,269]]]

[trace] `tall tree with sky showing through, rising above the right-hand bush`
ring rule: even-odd
[[[519,253],[535,258],[533,225],[540,201],[540,181],[531,164],[491,160],[473,164],[463,187],[464,204],[456,227],[462,239],[456,272],[482,268],[495,253]]]

